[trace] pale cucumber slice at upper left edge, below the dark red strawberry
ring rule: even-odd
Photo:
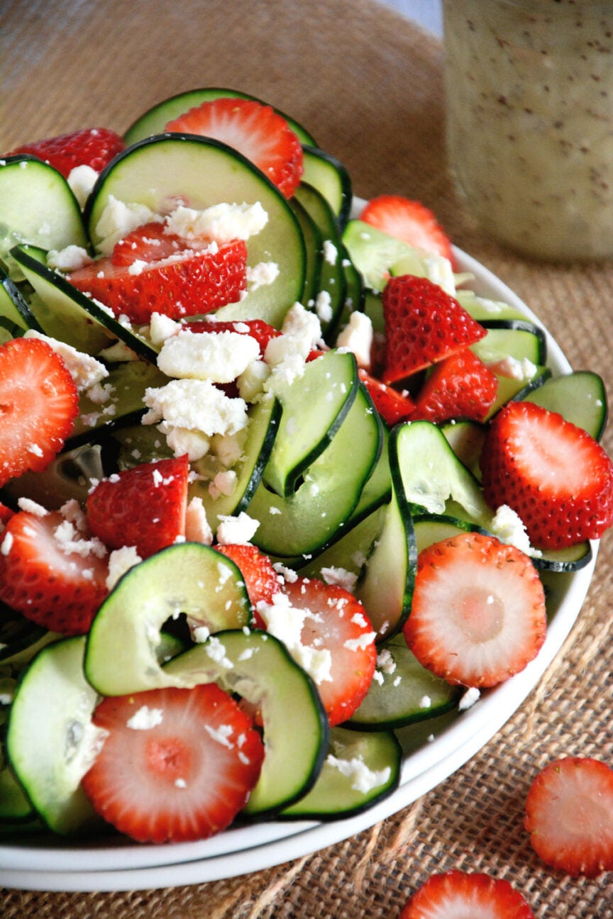
[[[16,274],[10,250],[20,243],[43,249],[88,245],[81,209],[57,169],[35,156],[0,160],[0,259]]]

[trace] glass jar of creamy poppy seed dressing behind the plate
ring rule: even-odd
[[[449,165],[523,255],[613,255],[613,0],[444,0]]]

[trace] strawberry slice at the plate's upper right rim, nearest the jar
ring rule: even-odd
[[[424,249],[452,260],[451,242],[436,216],[419,201],[402,195],[379,195],[371,198],[359,215],[382,233],[402,239],[415,249]]]

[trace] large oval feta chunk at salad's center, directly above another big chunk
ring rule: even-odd
[[[168,377],[230,383],[259,357],[251,335],[238,332],[190,332],[166,338],[157,366]]]

